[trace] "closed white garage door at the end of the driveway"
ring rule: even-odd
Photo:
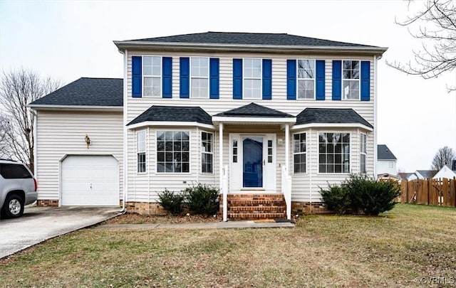
[[[61,181],[62,206],[119,205],[119,164],[113,156],[68,156]]]

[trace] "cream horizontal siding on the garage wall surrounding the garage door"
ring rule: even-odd
[[[61,200],[61,161],[67,155],[112,155],[119,163],[118,178],[123,178],[122,112],[38,111],[37,114],[38,200]],[[91,140],[89,148],[86,134]],[[120,181],[120,199],[122,191]]]

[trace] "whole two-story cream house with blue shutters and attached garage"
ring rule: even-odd
[[[30,105],[39,205],[120,201],[160,213],[158,191],[205,183],[220,189],[224,220],[290,218],[291,208],[320,209],[328,183],[376,174],[376,73],[386,48],[283,33],[114,43],[123,87],[81,78]],[[271,199],[286,209],[245,207]]]

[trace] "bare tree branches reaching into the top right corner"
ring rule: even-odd
[[[409,1],[409,8],[413,0]],[[420,2],[423,3],[423,2]],[[427,0],[424,8],[404,21],[411,36],[423,39],[422,49],[413,51],[413,63],[386,62],[410,75],[420,75],[425,79],[437,78],[442,73],[456,68],[456,1]],[[416,28],[418,26],[418,28]],[[430,45],[427,45],[429,44]],[[456,87],[447,86],[448,92]]]

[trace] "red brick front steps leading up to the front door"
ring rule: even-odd
[[[286,218],[282,194],[228,194],[227,201],[229,220]]]

